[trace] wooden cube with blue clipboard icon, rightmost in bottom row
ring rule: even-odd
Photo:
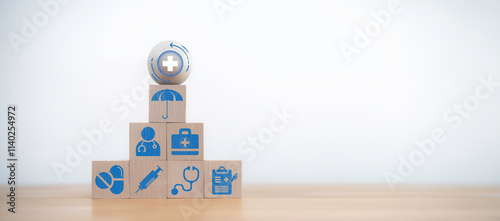
[[[205,161],[205,198],[241,198],[241,160]]]

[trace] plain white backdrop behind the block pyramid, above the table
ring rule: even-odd
[[[187,121],[205,123],[205,159],[243,160],[244,183],[386,185],[414,141],[442,128],[447,140],[402,185],[500,184],[500,87],[458,128],[443,119],[480,77],[500,81],[498,2],[402,0],[351,62],[339,45],[388,0],[221,0],[232,9],[223,19],[214,2],[73,0],[16,53],[8,34],[22,36],[23,18],[43,10],[2,1],[0,154],[7,105],[17,104],[18,183],[90,184],[92,160],[127,160],[128,123],[148,121],[147,99],[124,118],[111,106],[140,89],[149,50],[177,40],[194,60]],[[296,118],[263,149],[245,146],[257,153],[250,161],[238,146],[284,107]],[[102,119],[114,131],[59,181],[52,165],[68,165],[68,148]]]

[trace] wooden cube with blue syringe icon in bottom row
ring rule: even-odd
[[[167,161],[130,161],[130,198],[167,198]]]

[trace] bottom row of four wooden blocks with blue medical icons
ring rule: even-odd
[[[92,161],[92,198],[241,198],[241,161]]]

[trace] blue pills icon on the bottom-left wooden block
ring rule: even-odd
[[[111,173],[111,175],[109,174]],[[120,194],[123,192],[123,168],[114,165],[109,170],[109,173],[101,172],[95,177],[95,185],[101,189],[109,189],[113,194]]]

